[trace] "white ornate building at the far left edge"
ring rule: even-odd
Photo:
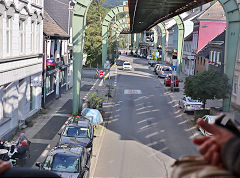
[[[0,137],[41,108],[43,0],[0,1]]]

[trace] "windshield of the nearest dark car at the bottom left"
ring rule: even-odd
[[[79,159],[77,156],[55,154],[51,168],[56,172],[77,173],[79,172]]]

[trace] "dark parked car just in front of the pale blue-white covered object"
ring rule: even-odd
[[[75,120],[75,122],[70,122],[59,135],[60,145],[79,145],[86,148],[89,155],[91,155],[94,128],[88,120]]]

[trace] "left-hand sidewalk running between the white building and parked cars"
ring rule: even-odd
[[[95,87],[99,81],[82,80],[82,88]],[[94,85],[95,83],[95,85]],[[81,91],[81,99],[86,97],[89,90]],[[19,134],[24,132],[32,142],[30,145],[30,159],[24,163],[24,167],[35,167],[35,162],[43,162],[49,150],[57,145],[58,132],[63,129],[65,122],[72,113],[72,89],[62,94],[62,97],[54,100],[45,112],[40,112],[33,118],[33,127],[19,131],[13,140],[17,140]]]

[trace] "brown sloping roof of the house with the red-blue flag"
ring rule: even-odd
[[[69,35],[44,10],[43,33],[57,39],[69,39]]]

